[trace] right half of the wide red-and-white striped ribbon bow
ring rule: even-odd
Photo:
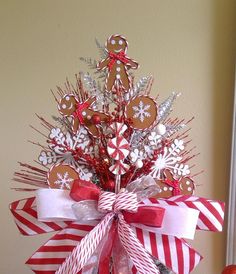
[[[222,231],[224,203],[195,196],[173,196],[169,199],[147,199],[146,205],[158,204],[187,207],[199,210],[197,229]],[[202,256],[189,244],[175,236],[148,232],[133,227],[135,235],[154,257],[172,269],[176,274],[188,274],[201,261]],[[133,267],[133,273],[137,273]]]

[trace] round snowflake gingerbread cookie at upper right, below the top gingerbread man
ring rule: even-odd
[[[130,126],[144,130],[155,125],[157,120],[157,104],[148,96],[134,97],[126,106],[126,118],[131,121]]]

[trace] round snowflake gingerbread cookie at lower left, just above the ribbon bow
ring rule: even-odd
[[[47,174],[47,182],[50,188],[71,189],[75,179],[79,179],[79,174],[67,164],[53,165]]]

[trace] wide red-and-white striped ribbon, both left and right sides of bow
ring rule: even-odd
[[[208,231],[222,230],[224,204],[219,201],[180,195],[169,199],[147,199],[143,204],[193,208],[199,211],[197,229]],[[92,223],[90,221],[82,225],[70,221],[40,222],[37,219],[35,197],[13,202],[10,205],[10,209],[14,215],[16,225],[23,235],[36,235],[60,230],[59,233],[40,247],[27,261],[27,264],[36,274],[55,273],[65,261],[66,257],[78,246],[83,237],[88,235],[88,232],[96,227],[98,223]],[[121,222],[122,221],[123,220],[121,220]],[[191,272],[202,259],[201,255],[181,238],[153,233],[137,227],[132,227],[132,231],[133,234],[130,231],[124,234],[125,238],[123,239],[123,243],[125,240],[129,240],[129,237],[132,241],[136,237],[147,252],[177,274],[187,274]],[[136,255],[133,254],[132,256],[132,260],[135,260]],[[133,264],[132,272],[137,273],[134,261],[131,261],[130,264]]]

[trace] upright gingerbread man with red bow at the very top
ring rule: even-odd
[[[130,89],[128,69],[137,69],[138,63],[126,56],[127,48],[128,43],[121,35],[112,35],[106,42],[108,57],[98,63],[97,68],[108,70],[105,83],[107,91],[114,90],[115,86],[122,87],[125,91]]]

